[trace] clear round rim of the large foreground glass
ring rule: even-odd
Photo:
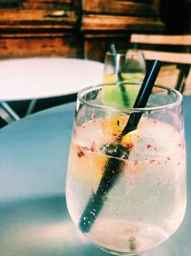
[[[126,84],[135,84],[135,85],[140,85],[141,83],[138,82],[123,82]],[[176,90],[173,87],[170,86],[166,86],[166,85],[162,85],[162,84],[154,84],[154,87],[160,88],[160,89],[165,89],[166,91],[171,91],[172,93],[174,93],[177,97],[176,101],[170,104],[166,104],[166,105],[159,105],[159,106],[147,106],[147,107],[119,107],[119,106],[110,106],[110,105],[100,105],[100,104],[94,104],[94,103],[90,103],[86,100],[83,99],[83,95],[85,92],[91,92],[94,91],[98,88],[102,88],[105,85],[117,85],[117,82],[102,82],[96,85],[89,85],[86,86],[82,89],[80,89],[77,93],[77,100],[86,106],[92,107],[92,108],[97,108],[97,109],[103,109],[105,111],[113,111],[113,112],[158,112],[161,110],[166,110],[169,108],[173,108],[177,105],[180,105],[182,103],[182,94],[180,93],[180,91]]]

